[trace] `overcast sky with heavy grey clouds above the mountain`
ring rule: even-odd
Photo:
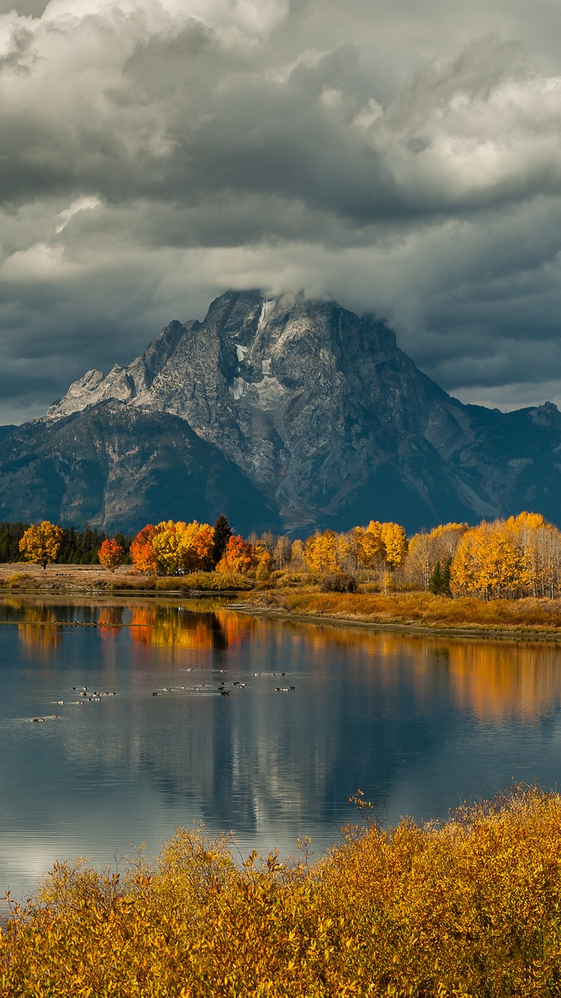
[[[0,423],[228,287],[561,404],[556,0],[0,0]]]

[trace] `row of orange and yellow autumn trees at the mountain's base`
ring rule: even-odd
[[[258,582],[292,574],[293,582],[323,580],[340,591],[361,585],[484,600],[561,596],[561,533],[540,514],[527,512],[474,527],[446,523],[411,538],[400,524],[371,520],[347,532],[316,531],[294,541],[270,531],[243,538],[223,515],[213,526],[196,520],[146,524],[134,538],[48,521],[2,523],[0,559],[110,569],[128,560],[146,575],[224,572]]]

